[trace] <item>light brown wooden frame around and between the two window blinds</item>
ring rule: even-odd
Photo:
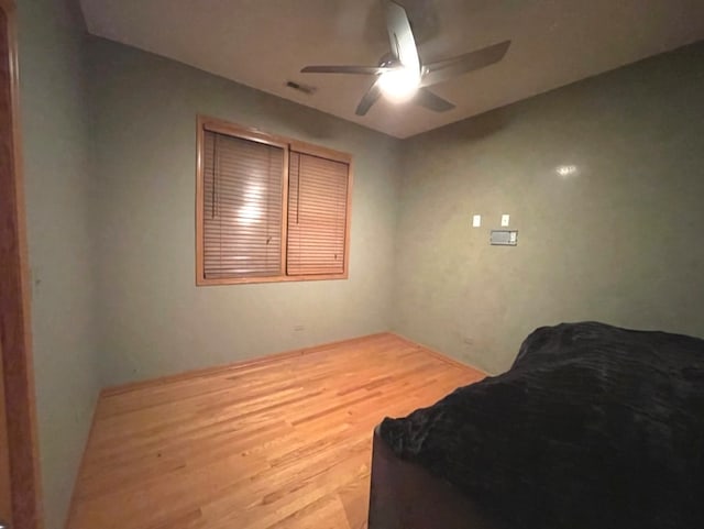
[[[227,134],[229,136],[265,143],[284,150],[284,175],[282,179],[282,269],[278,275],[266,277],[219,277],[207,278],[205,274],[205,236],[204,236],[204,168],[205,168],[205,136],[206,131]],[[350,269],[350,227],[352,217],[352,156],[348,153],[334,151],[332,148],[314,145],[307,142],[293,140],[286,136],[270,134],[257,129],[246,128],[227,121],[199,115],[197,119],[197,157],[196,157],[196,286],[212,285],[241,285],[252,283],[284,283],[284,282],[306,282],[326,279],[346,279]],[[344,228],[344,263],[341,274],[316,274],[316,275],[287,275],[287,230],[288,230],[288,176],[289,176],[289,153],[296,151],[302,154],[319,156],[334,162],[342,162],[348,165],[348,194],[346,194],[346,218]]]

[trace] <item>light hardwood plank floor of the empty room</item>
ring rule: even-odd
[[[366,527],[374,426],[483,376],[378,334],[103,392],[68,528]]]

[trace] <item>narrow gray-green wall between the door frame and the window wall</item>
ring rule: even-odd
[[[46,529],[63,527],[98,389],[80,20],[19,2],[32,330]]]

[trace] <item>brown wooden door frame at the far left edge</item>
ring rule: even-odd
[[[0,350],[4,374],[13,529],[40,529],[41,491],[32,368],[30,284],[19,122],[16,5],[0,0]],[[7,31],[6,31],[7,30]],[[7,35],[7,38],[6,38]],[[4,115],[3,115],[4,114]],[[1,123],[9,122],[10,126]]]

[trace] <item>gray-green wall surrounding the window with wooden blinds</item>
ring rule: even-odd
[[[399,141],[109,41],[90,53],[106,384],[389,329]],[[198,113],[353,154],[349,280],[195,286]]]

